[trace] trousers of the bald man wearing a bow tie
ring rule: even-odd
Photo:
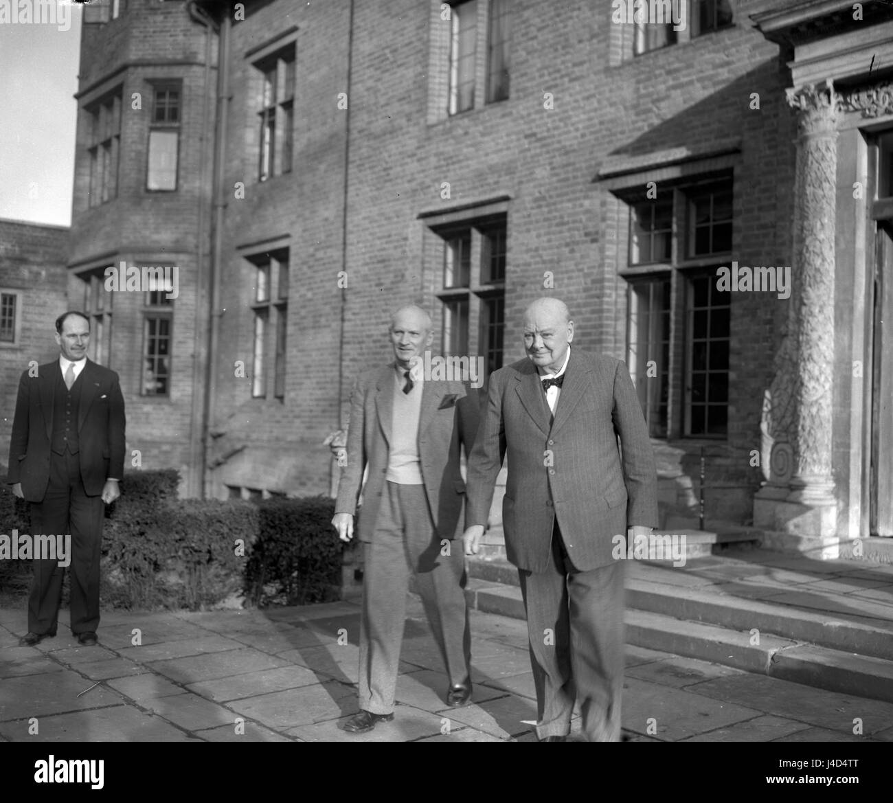
[[[537,735],[566,735],[576,698],[587,740],[620,741],[623,562],[578,572],[557,523],[552,558],[546,572],[518,570],[537,690]]]

